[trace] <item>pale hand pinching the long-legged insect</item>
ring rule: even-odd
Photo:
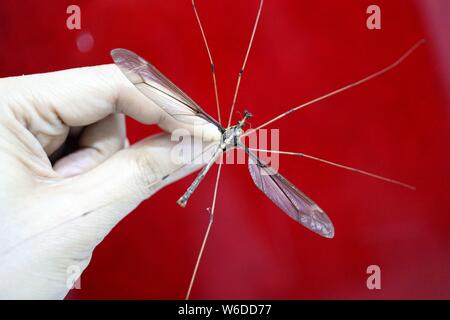
[[[123,114],[169,132],[193,128],[115,65],[0,79],[0,107],[0,298],[64,298],[69,267],[84,270],[141,201],[201,167],[174,161],[168,133],[127,147]]]

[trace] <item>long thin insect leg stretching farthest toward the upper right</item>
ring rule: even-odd
[[[325,95],[323,95],[323,96],[321,96],[321,97],[319,97],[319,98],[313,99],[313,100],[308,101],[308,102],[306,102],[306,103],[304,103],[304,104],[301,104],[301,105],[299,105],[299,106],[297,106],[297,107],[295,107],[295,108],[289,109],[288,111],[283,112],[282,114],[276,116],[275,118],[273,118],[273,119],[271,119],[271,120],[269,120],[269,121],[263,123],[263,124],[260,125],[259,127],[256,127],[255,129],[251,129],[251,130],[247,131],[247,132],[246,132],[245,134],[243,134],[242,136],[247,136],[247,135],[249,135],[249,134],[255,132],[256,130],[259,130],[259,129],[261,129],[261,128],[263,128],[263,127],[265,127],[265,126],[267,126],[267,125],[269,125],[269,124],[271,124],[271,123],[273,123],[273,122],[275,122],[275,121],[277,121],[277,120],[279,120],[279,119],[281,119],[281,118],[287,116],[288,114],[291,114],[292,112],[295,112],[295,111],[297,111],[297,110],[299,110],[299,109],[302,109],[302,108],[304,108],[304,107],[307,107],[307,106],[309,106],[309,105],[311,105],[311,104],[313,104],[313,103],[319,102],[319,101],[324,100],[324,99],[326,99],[326,98],[329,98],[329,97],[331,97],[331,96],[334,96],[335,94],[341,93],[341,92],[343,92],[343,91],[345,91],[345,90],[348,90],[348,89],[350,89],[350,88],[356,87],[356,86],[358,86],[358,85],[360,85],[360,84],[363,84],[364,82],[367,82],[367,81],[369,81],[369,80],[371,80],[371,79],[373,79],[373,78],[376,78],[376,77],[382,75],[383,73],[388,72],[389,70],[395,68],[395,67],[398,66],[401,62],[403,62],[403,60],[405,60],[411,53],[413,53],[413,51],[415,51],[419,46],[421,46],[421,45],[424,44],[424,43],[425,43],[425,40],[424,40],[424,39],[419,40],[414,46],[412,46],[412,47],[411,47],[408,51],[406,51],[400,58],[398,58],[397,61],[395,61],[395,62],[392,63],[391,65],[387,66],[386,68],[381,69],[380,71],[377,71],[377,72],[375,72],[375,73],[373,73],[373,74],[371,74],[371,75],[365,77],[364,79],[361,79],[361,80],[359,80],[359,81],[353,82],[353,83],[351,83],[351,84],[349,84],[349,85],[346,85],[345,87],[342,87],[342,88],[337,89],[337,90],[335,90],[335,91],[333,91],[333,92],[327,93],[327,94],[325,94]]]

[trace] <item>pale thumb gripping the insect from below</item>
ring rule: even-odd
[[[178,142],[167,133],[155,135],[117,152],[84,174],[65,179],[57,189],[70,195],[70,203],[78,206],[72,214],[101,215],[97,220],[103,225],[89,228],[97,229],[96,232],[103,228],[106,235],[141,201],[200,169],[216,148],[217,143],[204,144],[192,136],[184,136]]]

